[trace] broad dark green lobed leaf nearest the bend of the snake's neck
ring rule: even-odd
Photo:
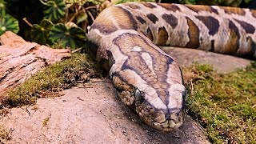
[[[69,27],[62,23],[58,23],[50,30],[49,38],[54,43],[62,41],[63,46],[74,49],[84,45],[86,32],[80,27]]]

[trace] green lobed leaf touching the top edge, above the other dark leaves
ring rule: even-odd
[[[47,9],[43,11],[44,18],[50,21],[58,20],[65,14],[66,4],[63,0],[52,0],[43,3]]]

